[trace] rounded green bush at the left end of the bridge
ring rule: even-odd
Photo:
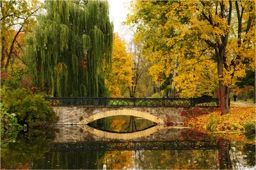
[[[2,95],[2,100],[8,112],[17,114],[20,125],[40,126],[56,121],[49,103],[40,95],[33,96],[28,89],[7,90]]]

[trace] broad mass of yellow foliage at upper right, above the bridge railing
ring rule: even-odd
[[[152,52],[147,58],[153,81],[174,80],[180,97],[211,95],[217,85],[234,87],[246,70],[255,69],[255,1],[137,0],[131,11],[126,24],[137,27],[136,41]]]

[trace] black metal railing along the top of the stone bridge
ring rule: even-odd
[[[113,107],[218,107],[218,98],[107,98],[46,97],[51,105],[87,105]]]

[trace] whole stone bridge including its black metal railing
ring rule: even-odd
[[[156,123],[183,123],[218,108],[218,98],[45,98],[59,124],[87,124],[108,116],[137,116]]]

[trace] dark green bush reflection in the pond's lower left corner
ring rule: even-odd
[[[12,143],[1,150],[1,169],[28,167],[33,159],[42,159],[55,138],[54,130],[31,129],[17,135]]]

